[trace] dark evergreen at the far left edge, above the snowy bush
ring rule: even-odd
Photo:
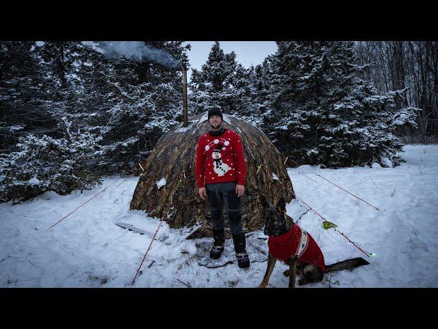
[[[30,132],[60,135],[45,108],[48,79],[37,49],[36,42],[0,42],[0,153],[16,151],[18,138]]]

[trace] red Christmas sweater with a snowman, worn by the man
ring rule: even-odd
[[[240,136],[229,129],[219,136],[210,132],[201,135],[196,146],[195,171],[198,188],[205,184],[236,181],[244,185],[246,163]]]

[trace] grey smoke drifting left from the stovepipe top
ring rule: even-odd
[[[127,58],[136,62],[153,60],[172,69],[181,69],[181,61],[175,60],[167,51],[147,45],[142,41],[98,41],[103,55],[108,58]]]

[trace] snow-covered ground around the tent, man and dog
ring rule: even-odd
[[[372,168],[288,169],[298,197],[375,254],[368,258],[333,229],[324,230],[322,219],[309,211],[298,223],[319,243],[326,264],[359,256],[371,264],[326,274],[322,282],[305,287],[438,287],[438,145],[409,145],[404,150],[407,163],[396,168],[374,164]],[[131,286],[158,221],[129,210],[138,177],[118,186],[122,181],[109,177],[103,186],[82,194],[45,193],[15,206],[0,204],[0,287],[257,287],[261,282],[267,262],[260,254],[253,254],[253,260],[261,261],[248,269],[236,263],[209,269],[198,265],[196,243],[205,245],[210,239],[186,240],[194,228],[170,229],[163,222],[142,274]],[[299,202],[287,204],[294,219],[298,209]],[[120,228],[115,225],[118,221],[139,226],[146,234]],[[248,240],[263,237],[263,232],[255,232]],[[267,249],[265,240],[257,241]],[[230,252],[231,244],[227,240]],[[287,287],[285,269],[277,262],[268,287]]]

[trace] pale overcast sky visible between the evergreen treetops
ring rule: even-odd
[[[211,46],[214,41],[187,41],[192,45],[192,50],[188,51],[190,61],[190,70],[188,71],[188,82],[192,75],[191,69],[201,69],[208,58]],[[276,51],[276,43],[274,41],[220,41],[220,47],[224,53],[234,51],[238,63],[245,67],[251,64],[254,66],[261,64],[266,56]]]

